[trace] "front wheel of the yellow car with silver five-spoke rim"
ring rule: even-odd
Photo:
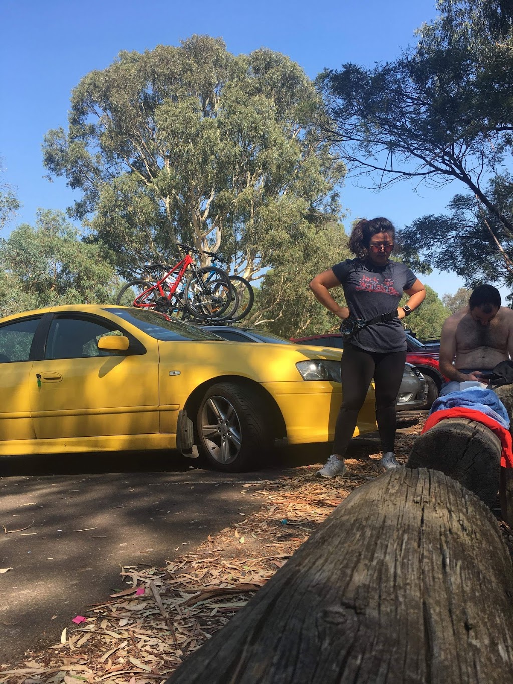
[[[264,462],[274,442],[265,402],[231,382],[209,388],[198,409],[196,431],[202,459],[228,473]]]

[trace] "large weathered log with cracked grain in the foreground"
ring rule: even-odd
[[[505,684],[512,596],[490,510],[400,469],[354,490],[168,684]]]

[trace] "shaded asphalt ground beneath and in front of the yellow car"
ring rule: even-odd
[[[121,566],[162,566],[257,510],[241,484],[327,449],[285,449],[274,467],[233,475],[161,453],[3,458],[0,570],[12,569],[0,572],[0,663],[58,642],[72,618],[122,588]]]

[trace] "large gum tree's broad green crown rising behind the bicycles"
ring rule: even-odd
[[[71,214],[116,252],[123,276],[183,241],[252,278],[337,218],[345,167],[319,139],[323,118],[288,57],[236,56],[192,36],[83,77],[68,131],[45,137],[44,165],[80,193]]]

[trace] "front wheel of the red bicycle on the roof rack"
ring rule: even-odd
[[[220,319],[231,304],[232,291],[226,271],[215,266],[205,266],[187,280],[185,304],[198,319]]]

